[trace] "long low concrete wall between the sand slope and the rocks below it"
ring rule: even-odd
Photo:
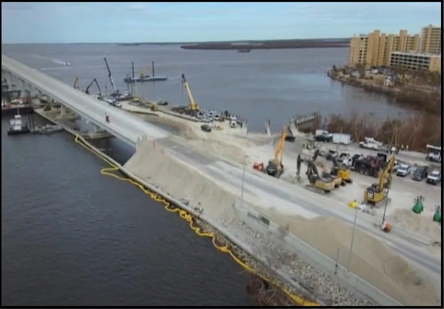
[[[247,224],[253,231],[266,235],[272,233],[277,236],[281,234],[281,228],[278,224],[271,221],[263,214],[249,208],[240,201],[236,201],[235,210],[239,218]],[[388,296],[384,292],[378,290],[356,274],[347,271],[341,265],[337,265],[335,261],[311,247],[293,234],[286,234],[283,237],[283,243],[286,249],[294,252],[304,260],[307,264],[328,274],[333,280],[347,288],[350,292],[366,298],[380,306],[387,307],[403,307],[398,301]]]

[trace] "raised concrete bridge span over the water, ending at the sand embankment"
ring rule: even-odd
[[[169,132],[159,127],[124,113],[117,107],[99,101],[3,54],[1,55],[1,69],[4,71],[8,84],[12,84],[13,79],[16,79],[14,84],[21,86],[22,89],[35,89],[39,97],[46,95],[59,102],[62,105],[62,115],[68,107],[90,123],[110,132],[134,148],[137,139],[141,136],[146,136],[147,139],[158,139],[169,135]],[[106,116],[109,122],[106,121]]]

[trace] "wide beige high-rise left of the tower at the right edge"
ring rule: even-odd
[[[407,30],[401,30],[398,35],[387,35],[375,30],[368,35],[354,36],[350,41],[348,64],[362,64],[366,68],[389,66],[392,52],[416,51],[419,43],[419,35],[408,35]]]

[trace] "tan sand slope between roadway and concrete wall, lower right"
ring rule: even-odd
[[[340,265],[348,264],[352,227],[332,218],[305,219],[261,210],[289,231]],[[437,306],[440,298],[427,278],[421,277],[385,243],[361,231],[355,231],[350,270],[404,306]]]

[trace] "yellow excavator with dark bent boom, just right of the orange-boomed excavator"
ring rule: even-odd
[[[296,177],[298,179],[300,178],[302,163],[307,166],[307,172],[305,174],[310,182],[310,184],[305,186],[306,189],[320,194],[328,193],[334,189],[335,183],[333,179],[330,177],[325,177],[325,175],[320,176],[313,160],[303,158],[300,154],[297,156]]]

